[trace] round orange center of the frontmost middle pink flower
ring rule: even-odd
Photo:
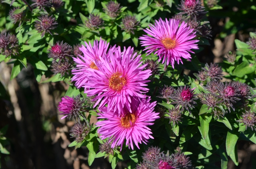
[[[109,87],[114,91],[121,91],[126,85],[126,78],[120,72],[115,72],[109,78]]]

